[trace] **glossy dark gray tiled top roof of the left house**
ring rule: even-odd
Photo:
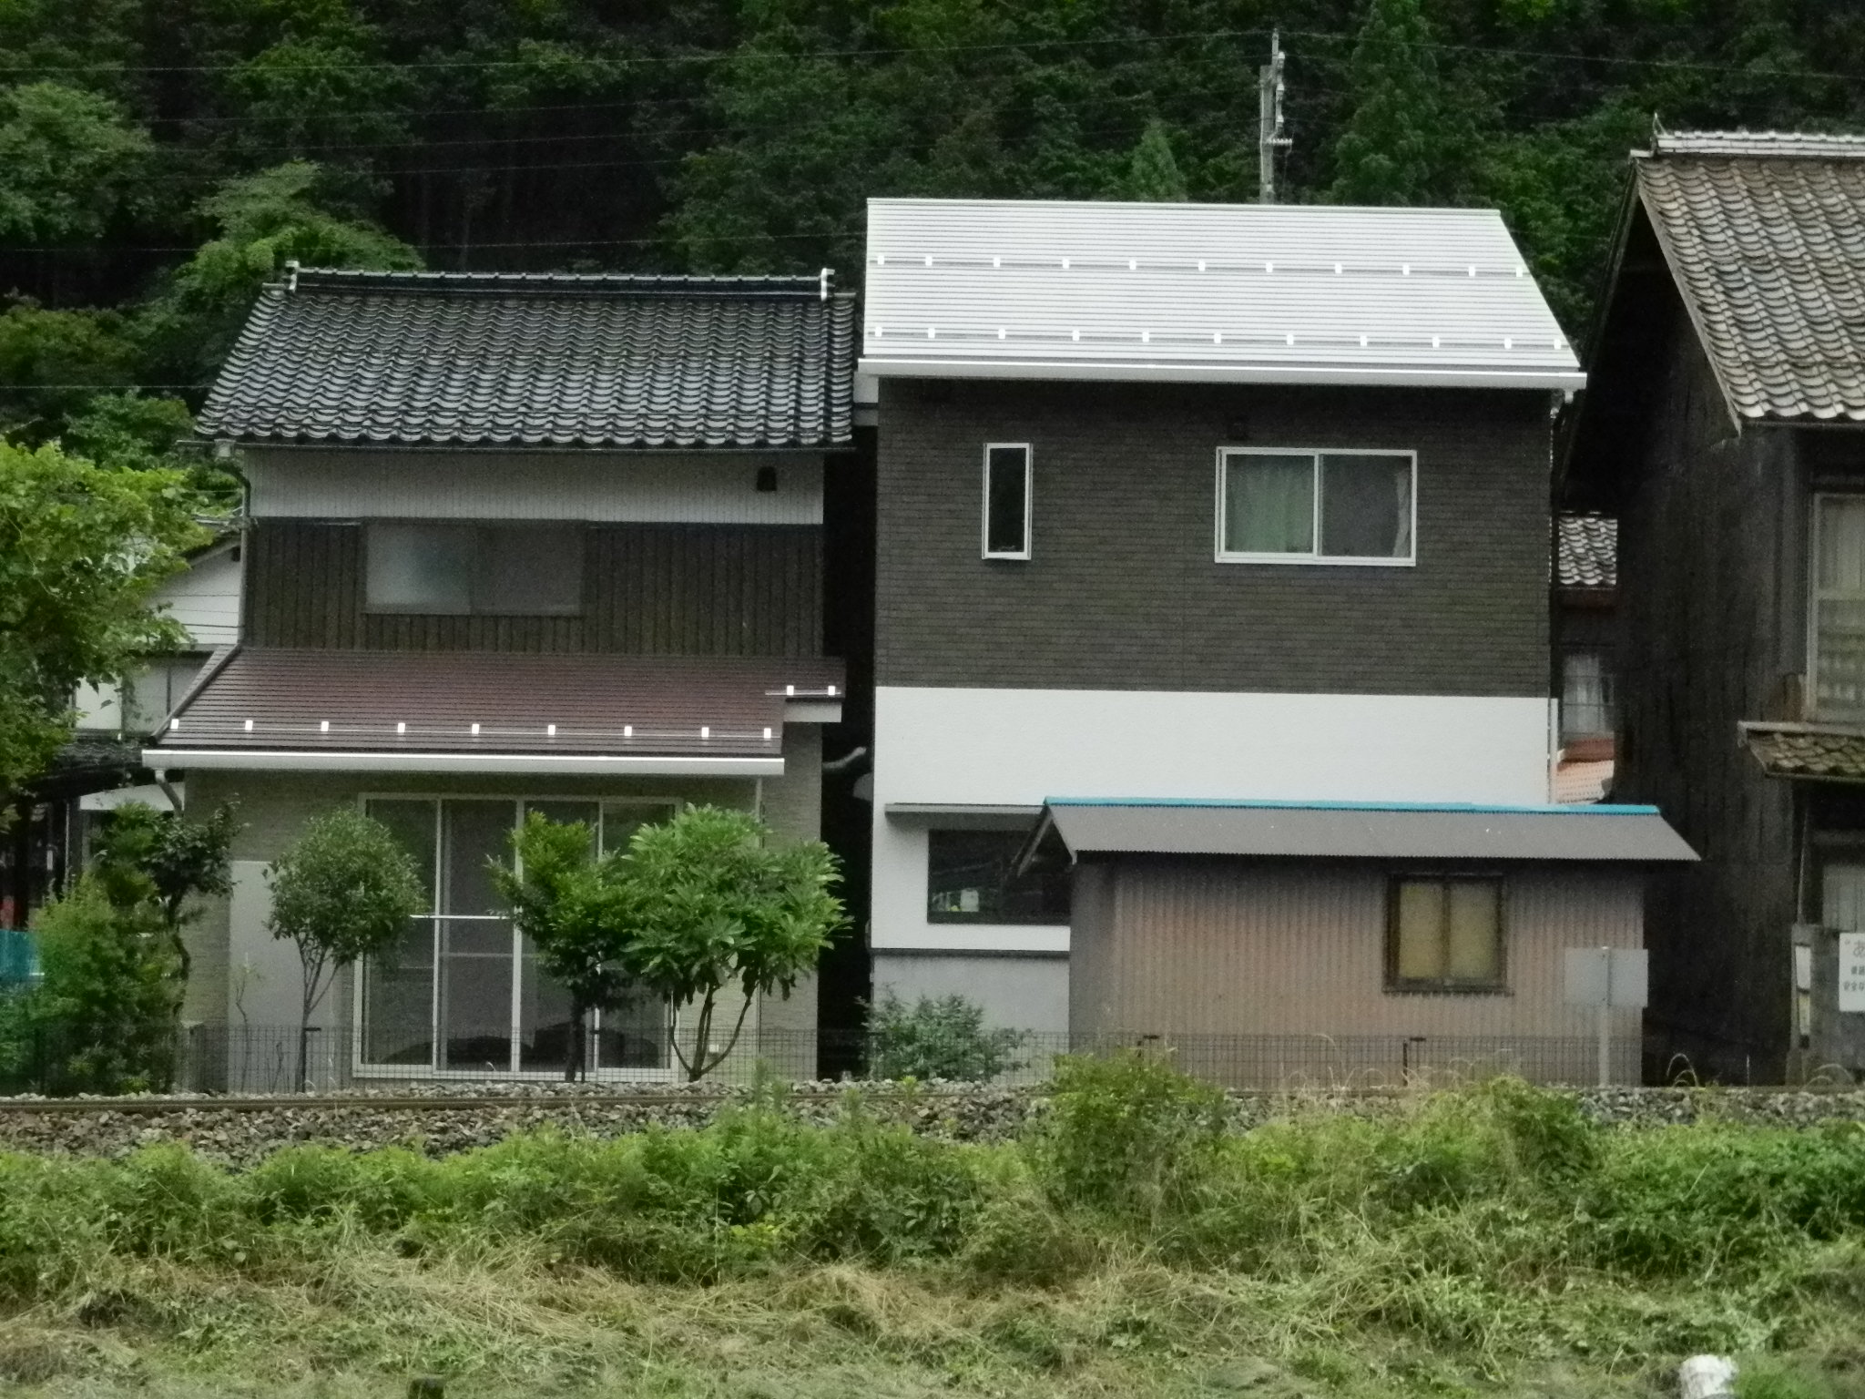
[[[200,431],[283,442],[830,448],[854,297],[819,278],[297,270]]]

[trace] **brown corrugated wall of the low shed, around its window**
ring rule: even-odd
[[[1583,1037],[1563,951],[1641,946],[1637,875],[1522,867],[1503,884],[1505,992],[1389,992],[1382,867],[1130,858],[1076,879],[1078,1035]],[[1636,1039],[1637,1017],[1621,1018]]]

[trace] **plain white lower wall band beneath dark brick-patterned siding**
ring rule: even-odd
[[[1067,927],[929,923],[927,828],[890,804],[1050,796],[1548,800],[1539,698],[1158,690],[875,692],[873,948],[1065,953]]]

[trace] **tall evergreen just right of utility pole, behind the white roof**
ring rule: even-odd
[[[1333,145],[1333,203],[1432,203],[1444,101],[1421,0],[1371,0],[1350,67],[1352,114]]]

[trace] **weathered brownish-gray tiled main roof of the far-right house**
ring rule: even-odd
[[[1865,138],[1658,136],[1634,170],[1731,409],[1865,420]]]

